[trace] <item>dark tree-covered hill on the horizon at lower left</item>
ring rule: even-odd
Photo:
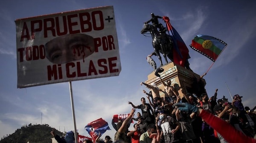
[[[2,137],[0,143],[52,143],[51,128],[48,124],[22,126],[17,129],[12,135]],[[57,135],[63,135],[55,129]]]

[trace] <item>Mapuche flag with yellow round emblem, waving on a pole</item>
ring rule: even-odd
[[[208,35],[196,35],[190,45],[192,49],[203,54],[213,62],[216,61],[226,46],[227,43],[223,42],[221,39]]]

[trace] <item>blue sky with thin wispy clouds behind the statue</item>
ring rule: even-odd
[[[140,82],[153,70],[145,57],[153,51],[151,38],[140,34],[150,13],[167,16],[189,48],[190,67],[202,75],[212,61],[189,47],[197,34],[217,37],[226,42],[204,79],[209,96],[218,88],[231,101],[233,95],[243,96],[244,106],[253,108],[256,87],[256,1],[241,0],[1,0],[0,2],[0,137],[12,134],[23,125],[47,123],[61,132],[74,129],[68,82],[17,89],[15,20],[64,11],[113,6],[122,71],[119,76],[73,81],[76,128],[89,136],[84,126],[98,118],[105,119],[112,130],[115,114],[128,113],[131,105],[141,104],[145,97]],[[162,24],[163,21],[160,20]],[[153,57],[160,65],[158,59]],[[148,90],[147,90],[148,91]],[[136,112],[140,112],[137,109]],[[132,128],[131,128],[132,129]]]

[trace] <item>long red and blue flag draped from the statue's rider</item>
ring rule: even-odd
[[[184,67],[185,62],[189,57],[189,49],[187,48],[183,39],[180,37],[180,34],[171,25],[169,17],[163,17],[163,20],[166,22],[166,27],[168,31],[171,31],[172,33],[172,38],[174,42],[173,62]]]

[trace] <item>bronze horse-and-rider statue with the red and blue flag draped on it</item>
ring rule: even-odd
[[[166,64],[168,64],[168,57],[171,62],[175,62],[175,64],[179,64],[186,69],[191,70],[188,62],[188,59],[190,58],[189,50],[175,28],[170,24],[169,18],[155,16],[153,13],[151,13],[151,17],[152,18],[150,20],[144,22],[144,26],[140,33],[144,35],[149,32],[151,34],[154,52],[157,54],[161,66],[163,66],[163,62],[160,53],[163,54]],[[158,22],[158,18],[163,18],[172,35],[166,34],[166,28]],[[149,22],[152,22],[152,25],[148,24]],[[157,28],[159,28],[159,31]]]

